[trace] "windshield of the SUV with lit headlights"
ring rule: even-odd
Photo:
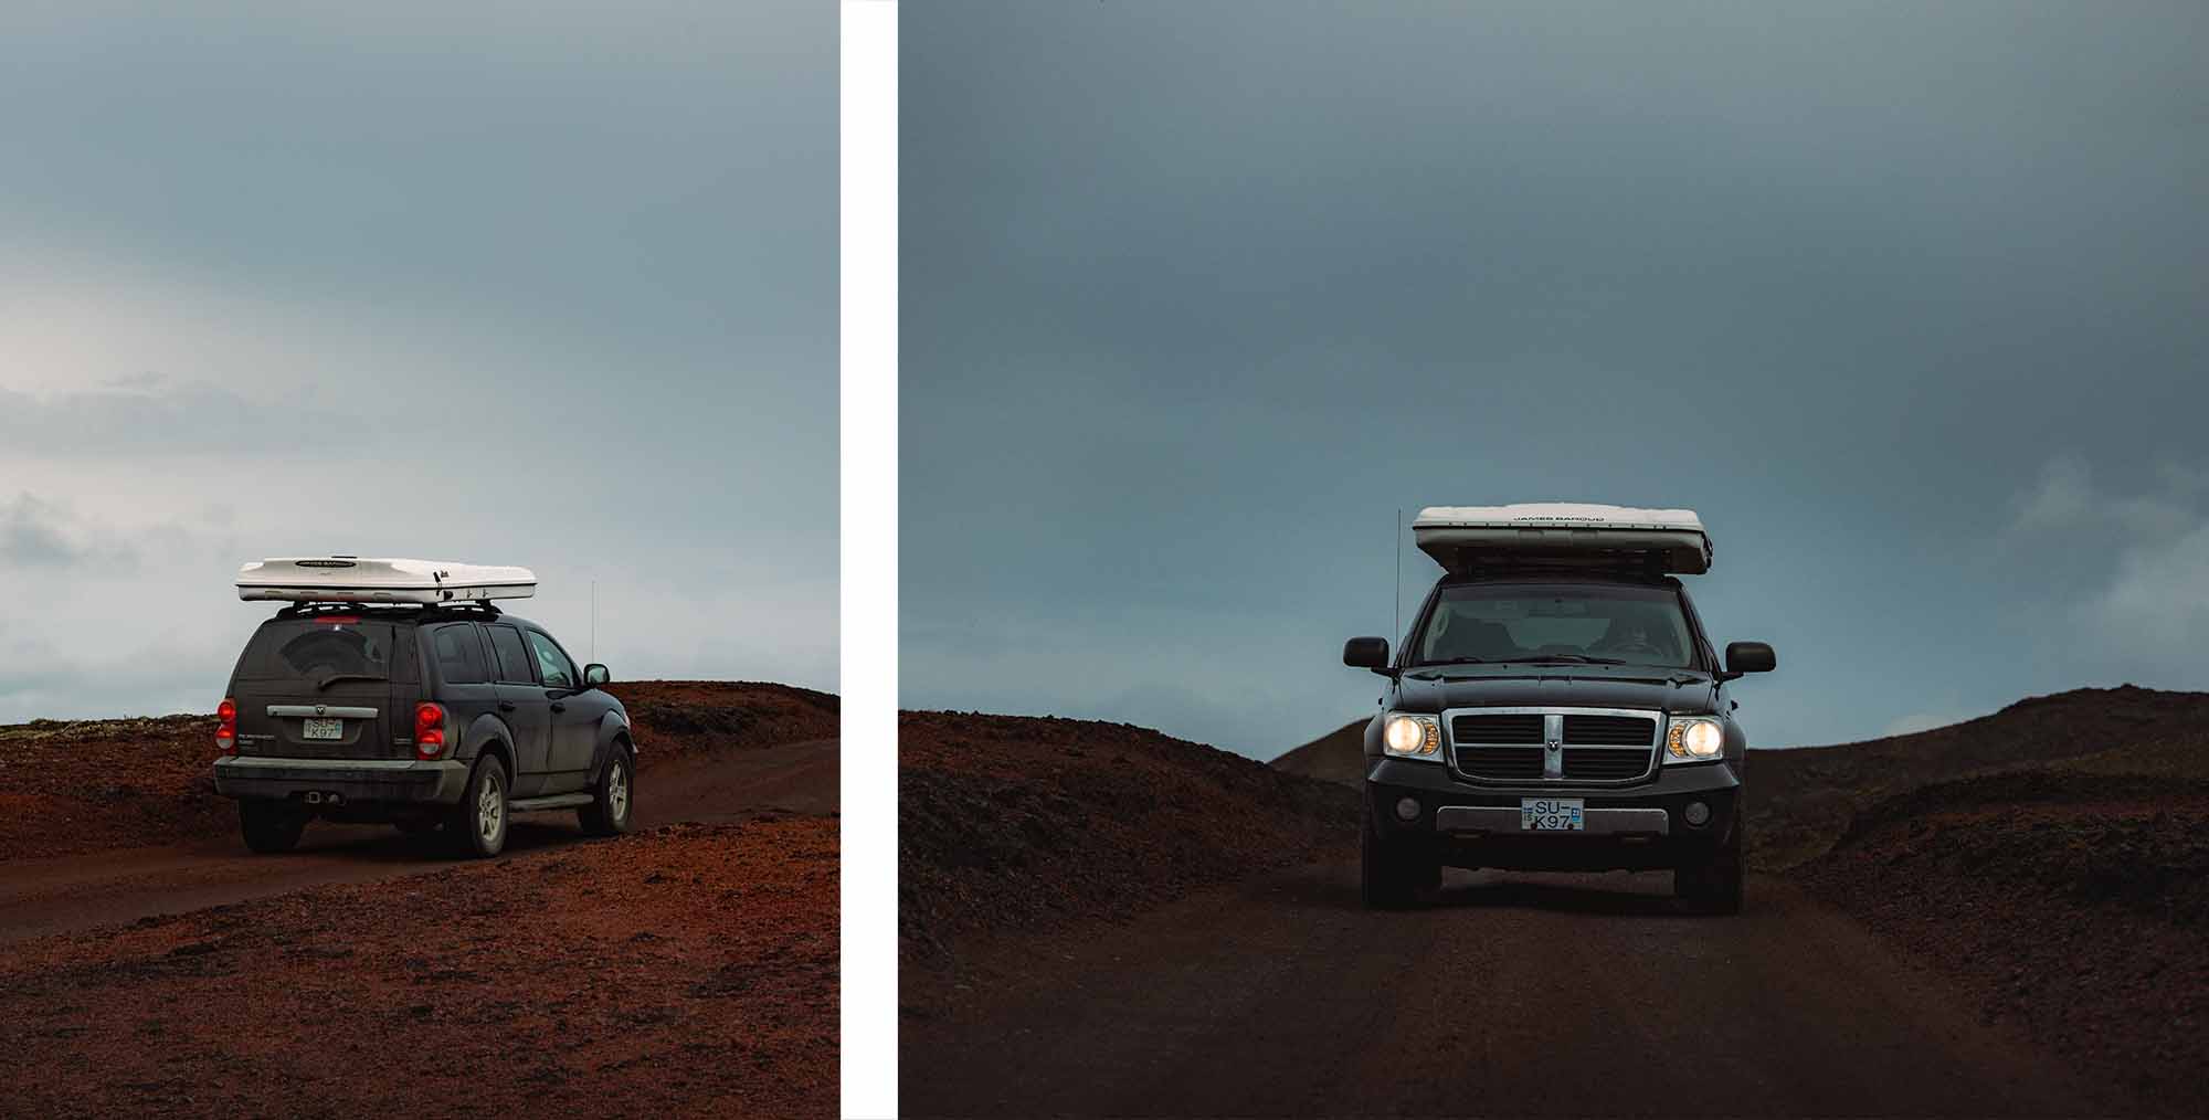
[[[1679,592],[1628,583],[1473,583],[1442,588],[1412,665],[1590,661],[1694,667]]]

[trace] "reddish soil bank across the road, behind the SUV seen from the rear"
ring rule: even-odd
[[[707,751],[837,736],[837,698],[749,680],[627,680],[638,769]],[[168,844],[236,828],[214,795],[214,716],[0,727],[0,862]]]

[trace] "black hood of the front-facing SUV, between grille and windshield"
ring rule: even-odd
[[[1668,714],[1716,709],[1716,685],[1694,669],[1639,665],[1447,665],[1409,669],[1396,711],[1454,707],[1639,707]]]

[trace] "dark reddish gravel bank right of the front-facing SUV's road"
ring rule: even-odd
[[[2187,778],[2061,767],[1924,786],[1858,813],[1794,877],[1964,981],[1986,1023],[2149,1111],[2202,1107],[2209,756]]]

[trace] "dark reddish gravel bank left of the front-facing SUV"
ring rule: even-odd
[[[1356,850],[1352,791],[1142,727],[906,711],[897,751],[908,963]]]

